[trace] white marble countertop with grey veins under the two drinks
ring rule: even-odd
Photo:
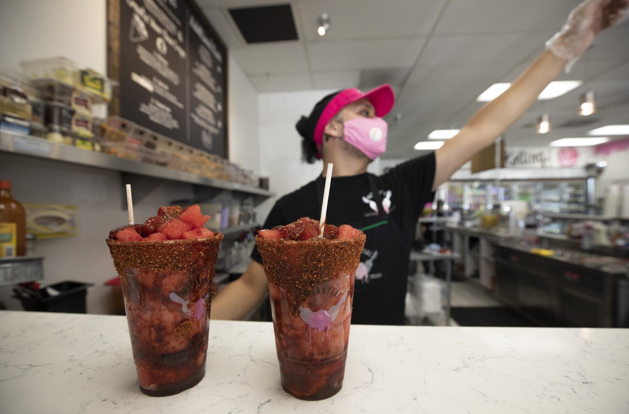
[[[628,329],[352,326],[343,389],[280,386],[273,328],[212,321],[207,373],[138,389],[125,317],[0,311],[0,412],[628,413]]]

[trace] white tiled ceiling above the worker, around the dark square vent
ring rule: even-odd
[[[511,82],[543,50],[579,0],[197,0],[259,92],[394,85],[386,158],[408,158],[433,129],[460,128],[494,82]],[[247,45],[229,8],[291,4],[299,40]],[[325,36],[317,18],[330,15]],[[505,133],[508,144],[546,145],[586,136],[606,124],[629,123],[629,23],[599,36],[570,74],[584,84],[538,101]],[[579,95],[596,92],[595,123],[580,121]],[[313,102],[314,104],[314,102]],[[556,126],[535,134],[542,112]],[[393,117],[401,114],[400,123]],[[621,138],[621,137],[613,137]]]

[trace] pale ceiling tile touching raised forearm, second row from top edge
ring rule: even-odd
[[[438,36],[428,40],[418,65],[519,63],[552,33]]]

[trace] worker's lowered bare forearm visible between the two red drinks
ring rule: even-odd
[[[243,276],[213,298],[211,319],[243,320],[264,298],[267,286],[250,283]]]

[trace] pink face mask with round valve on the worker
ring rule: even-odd
[[[388,128],[382,118],[357,117],[343,123],[343,139],[375,160],[387,150]]]

